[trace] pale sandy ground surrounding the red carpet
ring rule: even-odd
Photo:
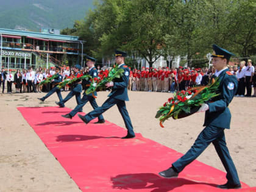
[[[39,104],[37,98],[44,94],[0,94],[0,191],[80,191],[16,109],[21,106],[55,106],[57,94]],[[62,94],[66,96],[68,92]],[[107,94],[98,94],[99,105],[105,101]],[[165,128],[161,128],[158,119],[154,118],[155,112],[169,97],[171,93],[129,91],[127,110],[135,132],[185,153],[203,129],[204,113],[179,120],[170,119],[164,123]],[[75,106],[75,98],[66,103],[66,107]],[[255,108],[256,98],[234,98],[230,104],[231,129],[226,130],[227,146],[240,179],[251,187],[256,186]],[[90,104],[85,105],[85,113],[91,110]],[[104,118],[124,127],[116,106],[105,112]],[[197,160],[224,171],[212,144]]]

